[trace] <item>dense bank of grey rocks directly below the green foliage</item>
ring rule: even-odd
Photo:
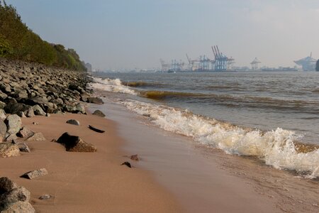
[[[89,97],[89,82],[86,72],[0,58],[0,109],[28,117],[64,111],[85,114],[79,101],[103,103]]]

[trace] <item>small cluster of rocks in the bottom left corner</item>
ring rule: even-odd
[[[9,178],[0,178],[0,212],[35,212],[29,203],[30,192]]]

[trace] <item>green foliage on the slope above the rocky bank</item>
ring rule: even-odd
[[[40,62],[70,70],[86,70],[79,55],[63,45],[42,40],[22,23],[16,9],[0,0],[0,57]]]

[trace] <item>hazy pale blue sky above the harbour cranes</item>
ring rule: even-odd
[[[159,59],[250,66],[319,58],[318,0],[6,0],[41,38],[74,48],[97,70],[151,69]]]

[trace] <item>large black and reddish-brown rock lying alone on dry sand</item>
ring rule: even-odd
[[[63,133],[57,143],[65,146],[69,152],[96,152],[96,147],[90,143],[86,143],[79,136],[71,136],[69,133]]]

